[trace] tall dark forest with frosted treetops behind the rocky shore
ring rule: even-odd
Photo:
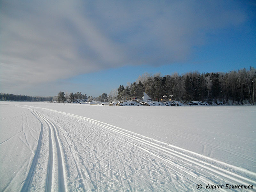
[[[120,85],[109,97],[121,99],[140,99],[146,92],[153,100],[160,101],[164,95],[172,95],[172,100],[223,102],[244,104],[256,101],[256,69],[238,71],[202,73],[197,71],[183,75],[174,73],[161,76],[148,73],[139,76],[138,81],[124,88]],[[111,100],[112,100],[111,99]],[[110,99],[109,99],[110,100]]]

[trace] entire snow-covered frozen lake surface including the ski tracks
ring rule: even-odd
[[[0,102],[0,114],[0,191],[256,188],[255,106]]]

